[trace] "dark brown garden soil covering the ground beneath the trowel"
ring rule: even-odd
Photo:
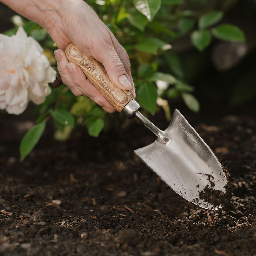
[[[99,138],[76,130],[67,142],[48,127],[20,163],[29,120],[1,113],[0,255],[256,254],[255,115],[188,119],[230,172],[229,205],[209,212],[133,153],[155,139],[134,120]]]

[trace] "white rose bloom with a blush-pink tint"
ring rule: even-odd
[[[29,101],[42,104],[55,77],[43,48],[22,27],[11,37],[0,34],[0,109],[19,115]]]

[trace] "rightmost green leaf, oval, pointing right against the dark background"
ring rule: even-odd
[[[212,34],[221,40],[244,42],[245,37],[243,31],[232,24],[221,24],[212,30]]]

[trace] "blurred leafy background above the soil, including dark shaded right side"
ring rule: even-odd
[[[254,0],[86,2],[126,49],[144,114],[163,111],[170,121],[176,106],[217,114],[255,100]],[[12,22],[13,28],[1,32],[12,35],[22,25],[56,67],[56,45],[48,33],[24,18],[12,16]],[[59,140],[67,139],[77,125],[85,125],[91,136],[98,136],[102,129],[122,121],[121,115],[106,113],[87,97],[75,97],[65,85],[53,88],[34,114],[42,126],[53,118]],[[26,148],[25,156],[33,146]]]

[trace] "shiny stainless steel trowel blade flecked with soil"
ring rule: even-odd
[[[199,193],[205,187],[226,193],[226,175],[214,153],[177,109],[163,135],[170,141],[156,139],[134,152],[183,198],[205,209],[221,208],[200,198]]]

